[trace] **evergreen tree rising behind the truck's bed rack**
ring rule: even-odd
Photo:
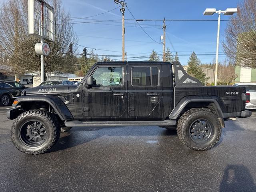
[[[193,51],[188,60],[187,73],[190,76],[197,78],[202,84],[204,84],[208,78],[206,77],[206,74],[203,72],[202,68],[200,67],[200,63],[201,61],[196,56],[196,53]]]

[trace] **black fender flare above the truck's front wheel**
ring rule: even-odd
[[[64,120],[73,120],[73,116],[64,102],[58,96],[44,96],[44,95],[31,95],[31,96],[21,96],[16,99],[18,103],[15,105],[14,109],[11,109],[7,112],[8,119],[15,119],[19,114],[20,105],[25,104],[26,102],[46,102],[55,110],[62,121]],[[16,107],[17,106],[17,107]],[[18,115],[17,115],[18,114]]]

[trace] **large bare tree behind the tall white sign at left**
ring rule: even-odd
[[[50,55],[45,57],[45,71],[56,68],[68,72],[76,62],[76,57],[67,54],[70,42],[76,52],[78,38],[74,33],[70,15],[62,7],[60,0],[48,1],[54,7],[55,40],[49,42]],[[9,59],[8,65],[17,74],[40,71],[40,56],[34,46],[40,42],[28,34],[28,0],[8,0],[2,2],[0,19],[0,51]]]

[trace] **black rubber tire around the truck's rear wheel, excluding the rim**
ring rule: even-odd
[[[197,143],[190,137],[190,127],[192,123],[199,119],[205,119],[213,126],[210,137],[204,143]],[[197,151],[205,151],[213,146],[220,140],[221,125],[220,121],[212,112],[205,109],[190,109],[186,111],[178,121],[177,134],[180,141],[187,147]]]

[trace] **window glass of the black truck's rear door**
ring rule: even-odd
[[[157,67],[132,67],[132,86],[158,86]]]

